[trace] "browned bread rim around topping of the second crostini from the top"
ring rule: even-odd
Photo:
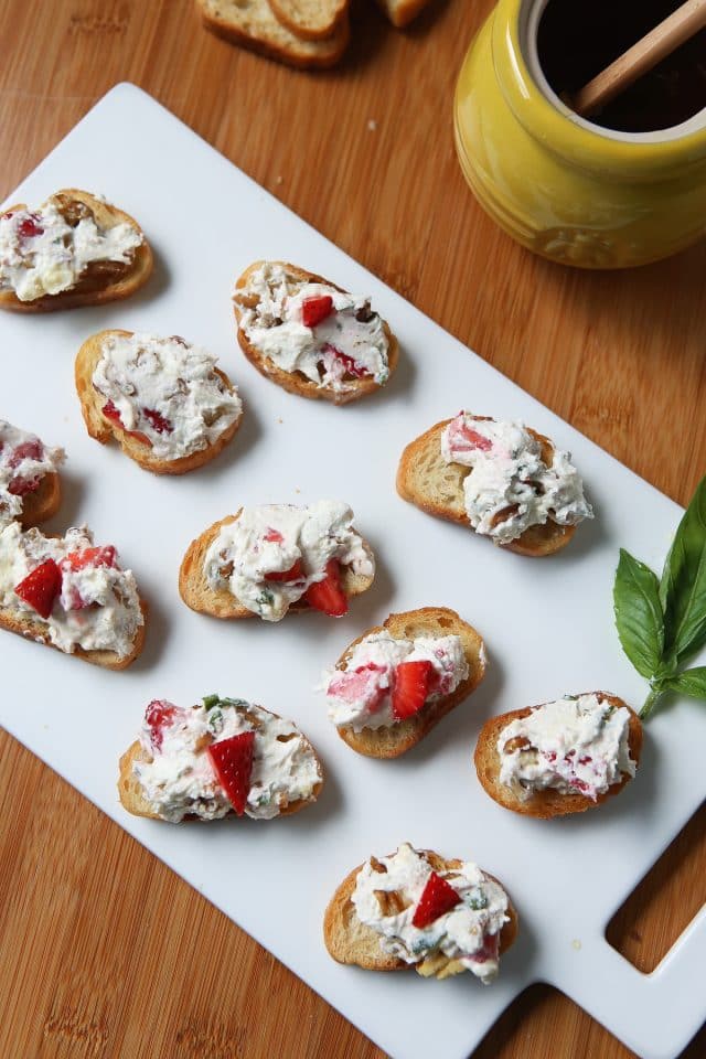
[[[356,378],[347,384],[347,388],[342,392],[333,389],[331,386],[319,386],[318,383],[307,378],[306,375],[301,374],[301,372],[285,372],[268,356],[264,356],[258,352],[258,350],[255,349],[255,346],[248,341],[245,332],[240,329],[242,312],[237,298],[238,291],[243,290],[243,288],[247,286],[253,272],[257,271],[257,269],[261,268],[265,264],[265,261],[254,261],[245,269],[243,275],[237,278],[233,302],[235,320],[238,328],[238,343],[250,364],[257,368],[260,375],[264,375],[265,378],[269,378],[274,383],[277,383],[277,385],[281,386],[282,389],[286,389],[288,394],[296,394],[298,397],[309,397],[311,400],[328,400],[332,402],[334,405],[347,405],[352,400],[360,400],[362,397],[367,397],[368,394],[374,394],[383,389],[384,387],[379,386],[373,378]],[[280,265],[287,272],[291,275],[292,279],[295,280],[302,280],[310,284],[323,284],[327,287],[333,287],[334,290],[338,290],[343,295],[347,293],[347,291],[345,291],[342,287],[336,286],[336,284],[332,284],[330,279],[324,279],[323,276],[318,276],[315,272],[309,272],[303,268],[299,268],[298,265],[291,265],[288,261],[270,261],[269,264]],[[387,339],[387,367],[389,375],[392,375],[397,367],[397,362],[399,360],[399,343],[397,338],[391,331],[387,321],[383,320],[382,323],[385,336]]]

